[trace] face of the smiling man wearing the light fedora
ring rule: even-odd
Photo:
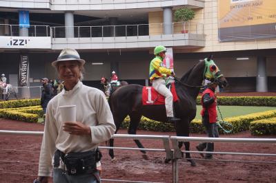
[[[59,78],[64,80],[65,83],[77,83],[81,76],[78,61],[61,61],[57,66],[57,71],[59,72]]]

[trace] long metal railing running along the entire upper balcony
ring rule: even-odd
[[[119,37],[119,36],[154,36],[164,34],[164,28],[172,34],[204,34],[204,25],[193,22],[150,23],[137,25],[93,25],[93,26],[60,26],[30,25],[28,36],[52,36],[66,38],[70,34],[75,38],[86,37]],[[19,25],[0,24],[0,36],[19,36]]]

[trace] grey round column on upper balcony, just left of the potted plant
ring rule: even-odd
[[[172,34],[172,7],[164,8],[163,19],[163,34]]]

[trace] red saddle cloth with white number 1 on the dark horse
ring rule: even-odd
[[[175,90],[175,83],[170,83],[170,92],[172,92],[172,100],[178,100],[177,92]],[[159,94],[153,87],[143,87],[142,90],[143,105],[164,105],[165,98]]]

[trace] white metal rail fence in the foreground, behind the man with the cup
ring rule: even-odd
[[[43,136],[43,131],[8,131],[0,130],[0,135],[21,135],[21,136]],[[112,138],[128,138],[132,140],[161,140],[163,141],[163,149],[140,149],[140,148],[130,148],[130,147],[99,147],[100,149],[121,149],[128,151],[163,151],[166,153],[166,158],[172,160],[172,182],[179,182],[179,159],[182,159],[183,153],[202,153],[199,151],[181,151],[178,147],[178,142],[250,142],[250,143],[276,143],[276,138],[200,138],[200,137],[178,137],[178,136],[148,136],[148,135],[127,135],[127,134],[115,134]],[[5,150],[5,149],[2,149]],[[10,149],[8,149],[10,151]],[[276,153],[239,153],[239,152],[208,152],[204,153],[213,153],[213,154],[231,154],[231,155],[259,155],[259,156],[273,156],[276,157]],[[195,159],[194,159],[195,160]],[[197,159],[204,160],[204,159]],[[3,161],[3,160],[2,160]],[[210,161],[210,160],[209,160]],[[227,161],[227,160],[214,160],[214,161]],[[233,160],[228,160],[233,162]],[[236,161],[237,162],[237,161]],[[248,161],[239,161],[239,162],[248,162]],[[250,161],[249,161],[250,162]],[[252,161],[253,162],[253,161]],[[276,162],[259,162],[259,163],[272,163]],[[17,173],[18,174],[18,173]],[[144,181],[132,181],[132,180],[111,180],[111,179],[101,179],[102,182],[140,182],[140,183],[149,183]],[[157,183],[157,182],[155,182]]]

